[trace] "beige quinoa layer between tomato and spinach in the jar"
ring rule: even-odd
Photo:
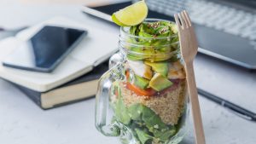
[[[158,114],[165,124],[177,124],[182,115],[185,101],[185,80],[179,80],[163,93],[150,97],[136,95],[126,89],[125,84],[120,84],[120,88],[127,107],[141,103]]]

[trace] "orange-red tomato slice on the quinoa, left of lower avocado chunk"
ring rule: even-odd
[[[127,89],[130,89],[137,95],[145,95],[145,96],[152,96],[156,93],[154,89],[148,88],[148,89],[140,89],[137,86],[131,84],[131,83],[126,83]]]

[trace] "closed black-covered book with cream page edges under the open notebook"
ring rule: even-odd
[[[98,79],[108,71],[108,61],[96,66],[93,71],[76,78],[67,84],[46,92],[38,92],[14,84],[25,93],[32,101],[43,109],[64,106],[77,101],[82,101],[96,95]],[[12,83],[13,84],[13,83]]]

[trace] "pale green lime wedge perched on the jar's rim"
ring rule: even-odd
[[[140,1],[113,13],[112,20],[119,26],[136,26],[143,22],[147,15],[147,4]]]

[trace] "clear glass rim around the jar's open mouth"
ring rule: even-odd
[[[147,18],[144,20],[144,22],[150,22],[150,21],[167,21],[167,22],[170,22],[172,24],[175,24],[175,22],[173,21],[170,21],[170,20],[163,20],[163,19],[154,19],[154,18]],[[171,36],[168,36],[168,37],[141,37],[141,36],[135,36],[135,35],[132,35],[130,33],[128,33],[127,31],[125,31],[125,28],[130,28],[129,26],[121,26],[120,27],[120,37],[122,34],[125,34],[125,37],[132,37],[132,38],[143,38],[143,39],[169,39],[169,38],[172,38],[172,37],[177,37],[177,33],[175,34],[172,34]],[[130,29],[129,29],[130,30]]]

